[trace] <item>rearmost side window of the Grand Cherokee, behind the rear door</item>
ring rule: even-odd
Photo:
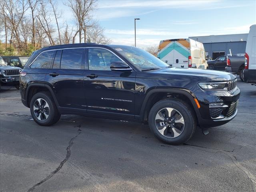
[[[55,51],[42,52],[36,58],[36,60],[34,60],[30,68],[42,68],[42,69],[50,68],[54,54],[55,54]]]

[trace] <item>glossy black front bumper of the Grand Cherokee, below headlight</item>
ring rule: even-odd
[[[198,123],[201,128],[226,124],[237,114],[240,89],[232,94],[225,90],[202,90],[194,92],[200,103]]]

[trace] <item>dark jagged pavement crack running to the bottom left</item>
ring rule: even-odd
[[[38,182],[37,184],[35,184],[34,186],[32,186],[32,187],[28,190],[28,192],[34,191],[34,189],[35,189],[36,187],[38,187],[38,186],[40,186],[41,184],[43,184],[44,182],[46,182],[48,179],[50,179],[52,176],[54,176],[54,174],[56,174],[56,173],[62,168],[62,166],[63,166],[63,165],[68,161],[68,159],[70,158],[70,156],[71,156],[71,149],[70,149],[70,148],[71,148],[72,145],[74,144],[75,138],[77,138],[78,135],[80,135],[81,131],[82,131],[82,130],[80,130],[80,128],[79,128],[79,129],[77,130],[76,136],[74,136],[73,138],[71,138],[70,141],[68,142],[68,146],[67,146],[67,148],[66,148],[66,151],[67,151],[66,157],[64,158],[64,160],[62,160],[62,162],[60,162],[59,166],[58,166],[53,172],[51,172],[48,176],[46,176],[46,178],[44,178],[43,180],[41,180],[40,182]]]

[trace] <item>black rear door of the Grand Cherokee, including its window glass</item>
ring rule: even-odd
[[[85,109],[84,48],[57,50],[45,81],[52,87],[63,110]],[[85,111],[86,112],[86,111]]]

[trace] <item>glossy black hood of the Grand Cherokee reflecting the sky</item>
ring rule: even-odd
[[[146,76],[147,78],[150,76],[150,78],[157,79],[164,78],[168,80],[184,80],[193,82],[223,82],[236,79],[236,76],[228,72],[194,68],[164,68],[160,70],[145,71],[140,74],[144,74],[142,76]]]

